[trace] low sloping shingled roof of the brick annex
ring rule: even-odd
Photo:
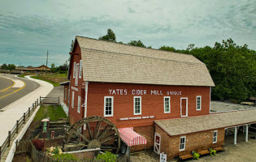
[[[189,134],[256,122],[256,109],[154,121],[169,135]]]

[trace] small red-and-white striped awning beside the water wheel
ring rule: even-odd
[[[122,128],[119,129],[120,138],[126,143],[129,147],[134,145],[146,144],[145,137],[137,134],[131,128]]]

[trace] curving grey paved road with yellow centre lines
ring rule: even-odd
[[[25,83],[24,87],[10,87],[13,82],[9,79],[2,78],[0,75],[0,109],[11,104],[15,100],[19,100],[21,97],[26,96],[28,93],[33,92],[39,87],[38,83],[35,83],[28,79],[16,78],[14,75],[4,75],[12,79],[19,79]],[[10,88],[8,88],[10,87]]]

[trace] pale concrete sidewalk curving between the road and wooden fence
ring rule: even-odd
[[[28,111],[28,107],[31,107],[40,96],[47,96],[54,88],[52,84],[45,81],[31,79],[28,76],[26,76],[26,78],[39,83],[40,87],[19,100],[16,100],[12,104],[7,105],[5,111],[0,112],[0,146],[2,146],[2,143],[7,139],[8,131],[15,126],[16,121],[23,116],[23,113]]]

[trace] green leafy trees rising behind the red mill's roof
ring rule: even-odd
[[[99,37],[99,40],[117,42],[115,33],[110,28],[106,36]],[[123,44],[121,41],[118,43]],[[131,40],[128,45],[151,48],[146,47],[141,40]],[[248,45],[236,45],[232,39],[228,39],[221,43],[215,42],[213,47],[206,45],[199,48],[190,44],[187,49],[175,49],[166,45],[158,49],[192,54],[204,62],[215,82],[211,92],[213,100],[240,103],[250,96],[256,96],[256,51],[248,49]]]

